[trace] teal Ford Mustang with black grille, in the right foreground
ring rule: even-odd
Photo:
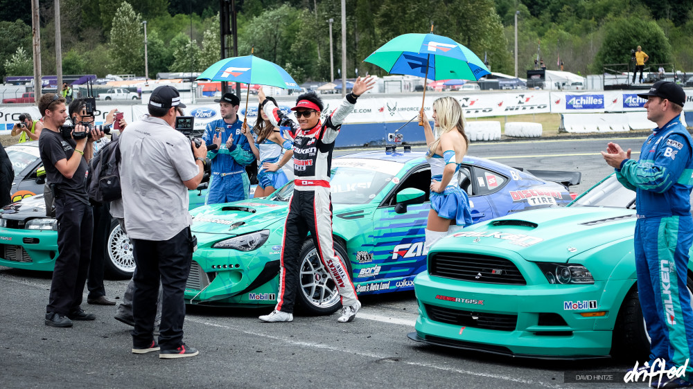
[[[649,354],[636,287],[635,192],[612,174],[569,206],[439,240],[414,279],[414,341],[508,356]],[[689,262],[687,286],[693,290]]]

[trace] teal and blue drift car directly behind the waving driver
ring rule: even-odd
[[[426,269],[422,251],[431,174],[423,152],[351,154],[333,159],[332,169],[334,248],[357,293],[411,290],[416,274]],[[475,222],[565,205],[572,198],[561,183],[577,184],[580,179],[579,172],[528,172],[472,156],[465,157],[460,172]],[[186,284],[188,303],[276,304],[284,221],[293,190],[288,183],[265,199],[191,212],[198,250]],[[308,314],[339,309],[340,296],[312,239],[306,240],[299,257],[299,305]]]

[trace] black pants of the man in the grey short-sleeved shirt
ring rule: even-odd
[[[159,345],[161,350],[173,350],[183,343],[184,292],[193,260],[189,235],[190,228],[186,227],[168,240],[132,239],[137,264],[132,296],[133,347],[148,347],[152,343],[159,280],[163,290]]]

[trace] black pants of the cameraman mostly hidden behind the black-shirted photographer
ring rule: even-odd
[[[106,261],[106,242],[111,229],[111,209],[109,203],[94,205],[94,239],[91,242],[91,262],[89,262],[89,274],[87,275],[87,298],[99,298],[106,296],[103,287],[103,267]]]

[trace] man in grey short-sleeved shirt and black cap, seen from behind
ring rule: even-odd
[[[128,125],[119,141],[125,230],[137,264],[132,352],[161,350],[161,359],[198,354],[183,343],[184,291],[196,246],[188,189],[202,182],[207,146],[195,147],[193,156],[194,143],[173,129],[177,107],[185,107],[177,89],[158,87],[150,97],[149,115]],[[152,332],[159,280],[163,297],[157,344]]]

